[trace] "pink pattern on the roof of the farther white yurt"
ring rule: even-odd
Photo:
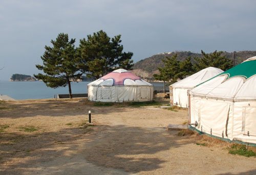
[[[105,76],[100,78],[101,80],[108,80],[108,79],[113,79],[114,83],[113,86],[117,85],[123,85],[123,82],[125,79],[131,79],[133,81],[135,80],[141,80],[138,76],[135,76],[135,74],[127,71],[127,72],[110,72],[106,74]]]

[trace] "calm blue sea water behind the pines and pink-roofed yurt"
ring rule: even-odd
[[[72,94],[87,93],[87,84],[90,82],[72,82]],[[153,82],[154,90],[162,90],[163,83]],[[168,88],[168,87],[166,87]],[[44,82],[10,82],[0,81],[0,94],[14,99],[43,99],[54,98],[55,94],[68,94],[69,87],[50,88]]]

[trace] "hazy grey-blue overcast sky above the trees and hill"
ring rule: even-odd
[[[162,52],[256,50],[254,0],[1,0],[0,81],[41,72],[40,56],[59,33],[79,40],[121,35],[134,63]]]

